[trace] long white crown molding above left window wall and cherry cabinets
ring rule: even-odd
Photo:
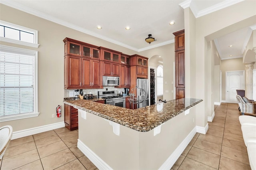
[[[46,19],[46,20],[49,20],[49,21],[51,21],[51,22],[60,24],[60,25],[62,25],[62,26],[66,26],[66,27],[68,27],[68,28],[72,28],[72,29],[74,29],[74,30],[77,30],[77,31],[83,32],[83,33],[85,33],[85,34],[88,34],[88,35],[90,35],[90,36],[94,36],[94,37],[96,37],[96,38],[100,38],[100,39],[102,39],[102,40],[105,40],[105,41],[108,41],[108,42],[111,42],[111,43],[115,43],[115,44],[120,45],[120,46],[122,46],[122,47],[126,47],[126,48],[132,49],[132,50],[134,50],[134,51],[138,51],[138,49],[135,48],[135,47],[132,47],[132,46],[127,45],[127,44],[125,44],[125,43],[118,42],[118,41],[113,40],[113,39],[111,39],[111,38],[108,38],[108,37],[106,37],[106,36],[102,36],[102,35],[100,35],[100,34],[96,34],[95,32],[86,30],[86,29],[84,29],[84,28],[82,28],[82,27],[75,26],[74,24],[70,24],[69,22],[65,22],[65,21],[63,21],[63,20],[59,20],[59,19],[57,19],[57,18],[54,18],[54,17],[52,17],[52,16],[50,16],[50,15],[47,15],[47,14],[44,14],[44,13],[42,13],[42,12],[38,12],[38,11],[32,9],[32,8],[29,8],[29,7],[20,5],[20,4],[18,4],[17,2],[2,0],[2,1],[1,1],[1,4],[10,6],[10,7],[12,7],[12,8],[16,8],[16,9],[21,10],[21,11],[23,11],[23,12],[32,14],[32,15],[34,15],[34,16],[38,16],[38,17],[40,17],[40,18],[44,18],[44,19]]]

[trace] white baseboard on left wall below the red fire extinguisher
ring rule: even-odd
[[[53,130],[53,129],[56,129],[56,128],[62,128],[62,127],[65,127],[64,122],[53,123],[53,124],[50,124],[50,125],[44,125],[44,126],[40,126],[40,127],[28,128],[28,129],[25,129],[25,130],[19,130],[19,131],[16,131],[16,132],[12,133],[12,140],[17,139],[17,138],[22,138],[22,137],[25,137],[25,136],[29,136],[29,135],[32,135],[32,134],[46,132],[46,131]]]

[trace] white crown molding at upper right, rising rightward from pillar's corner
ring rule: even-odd
[[[234,5],[238,2],[242,2],[244,0],[224,0],[223,2],[220,2],[214,6],[211,6],[209,8],[206,8],[204,10],[200,10],[197,14],[196,14],[196,18],[200,17],[200,16],[204,16],[204,15],[207,15],[207,14],[210,14],[212,12],[215,12],[215,11],[218,11],[218,10],[221,10],[223,8],[226,8],[228,6],[231,6],[231,5]]]

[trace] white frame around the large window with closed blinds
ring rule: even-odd
[[[10,53],[26,53],[34,55],[34,112],[32,113],[20,113],[17,115],[0,116],[0,122],[13,121],[18,119],[37,117],[40,113],[38,111],[38,51],[17,48],[7,45],[0,45],[0,51],[6,51]]]

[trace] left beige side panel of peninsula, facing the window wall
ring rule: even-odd
[[[85,111],[82,111],[85,112]],[[139,132],[120,125],[120,136],[106,119],[78,109],[78,138],[112,169],[137,170],[139,167]],[[94,162],[93,162],[94,163]]]

